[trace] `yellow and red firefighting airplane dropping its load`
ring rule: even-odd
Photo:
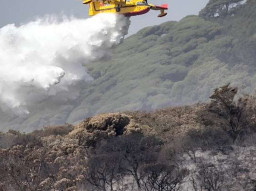
[[[158,17],[164,17],[168,5],[156,6],[148,4],[147,0],[83,0],[83,4],[89,4],[89,16],[98,13],[118,13],[127,17],[146,14],[150,9],[161,11]]]

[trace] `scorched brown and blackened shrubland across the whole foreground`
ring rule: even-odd
[[[1,191],[256,189],[254,95],[0,135]]]

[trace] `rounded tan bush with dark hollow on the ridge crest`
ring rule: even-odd
[[[102,141],[128,134],[154,134],[148,126],[135,123],[133,117],[121,114],[101,114],[88,118],[75,126],[69,137],[79,141],[85,148],[95,148]]]

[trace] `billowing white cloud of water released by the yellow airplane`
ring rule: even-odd
[[[0,104],[28,114],[48,99],[73,100],[93,80],[82,64],[100,59],[127,34],[130,21],[116,14],[89,19],[44,19],[0,29]],[[37,108],[38,109],[38,108]]]

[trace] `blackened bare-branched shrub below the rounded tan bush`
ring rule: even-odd
[[[126,176],[132,176],[141,189],[142,165],[155,162],[158,159],[162,141],[154,135],[144,136],[140,133],[123,135],[109,142],[104,150],[112,154],[120,154],[120,171]]]

